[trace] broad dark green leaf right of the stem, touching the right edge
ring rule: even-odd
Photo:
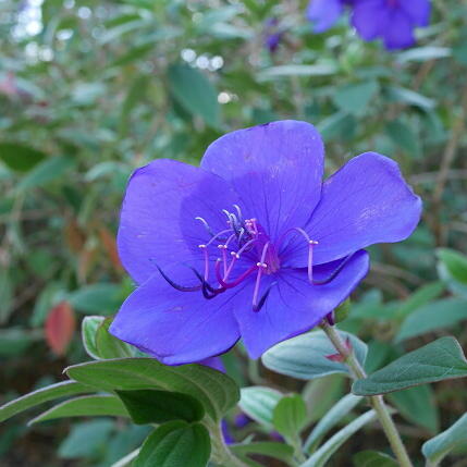
[[[419,384],[467,377],[467,361],[454,337],[417,348],[352,386],[356,395],[377,395]]]

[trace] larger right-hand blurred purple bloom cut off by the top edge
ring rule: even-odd
[[[414,29],[428,25],[430,10],[430,0],[355,0],[352,23],[362,39],[398,50],[415,44]]]

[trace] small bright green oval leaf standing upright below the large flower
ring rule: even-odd
[[[286,439],[296,438],[307,421],[307,406],[299,394],[282,397],[274,407],[272,422]]]

